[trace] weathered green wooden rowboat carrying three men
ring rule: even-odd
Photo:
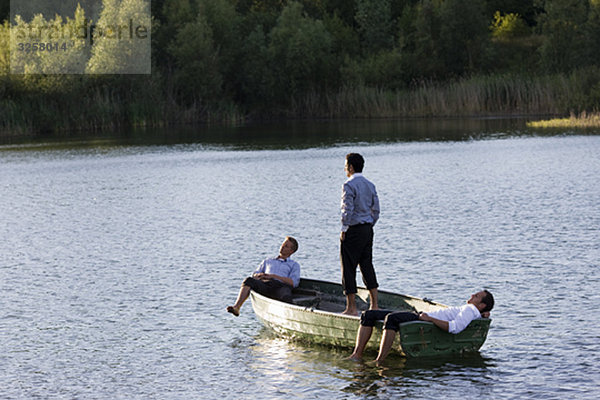
[[[379,308],[397,311],[430,312],[448,306],[426,298],[378,291]],[[250,298],[258,319],[278,335],[310,343],[352,348],[360,325],[358,316],[344,315],[346,305],[342,286],[314,279],[301,279],[293,291],[292,303],[274,300],[254,291]],[[359,310],[369,308],[369,291],[359,287],[356,294]],[[400,325],[392,348],[405,357],[446,356],[476,352],[485,342],[491,320],[472,321],[458,334],[451,334],[431,322],[413,321]],[[367,344],[376,350],[382,334],[378,322]]]

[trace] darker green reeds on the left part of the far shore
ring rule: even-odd
[[[90,78],[48,90],[40,90],[41,86],[36,79],[5,80],[0,92],[9,95],[0,98],[0,136],[245,121],[245,113],[232,102],[212,107],[200,102],[181,105],[172,96],[161,95],[160,88],[144,89],[143,82],[127,88],[119,82]]]

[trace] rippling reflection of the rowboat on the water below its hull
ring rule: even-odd
[[[422,394],[432,382],[452,380],[467,385],[489,383],[495,361],[479,352],[435,358],[411,359],[390,355],[385,365],[372,361],[376,353],[365,354],[365,361],[348,360],[349,348],[337,348],[278,337],[266,328],[255,336],[253,346],[256,362],[286,366],[298,376],[317,375],[314,381],[329,382],[337,391],[360,397],[378,397],[413,391]],[[291,379],[290,379],[291,380]],[[322,386],[328,386],[327,383]]]

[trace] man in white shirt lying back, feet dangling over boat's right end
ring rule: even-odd
[[[465,329],[471,321],[481,317],[489,317],[490,311],[494,307],[494,296],[487,290],[482,290],[471,295],[467,304],[461,307],[449,307],[426,313],[404,312],[404,311],[385,311],[368,310],[364,311],[360,317],[360,327],[356,336],[356,346],[354,352],[350,355],[351,360],[360,360],[362,353],[371,338],[375,321],[384,320],[383,336],[379,345],[379,354],[375,359],[379,365],[389,354],[396,332],[400,329],[400,324],[409,321],[429,321],[433,322],[438,328],[457,334]]]

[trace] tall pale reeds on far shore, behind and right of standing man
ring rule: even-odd
[[[405,90],[345,86],[294,99],[289,114],[317,118],[403,118],[557,114],[572,97],[569,78],[483,76],[422,82]]]

